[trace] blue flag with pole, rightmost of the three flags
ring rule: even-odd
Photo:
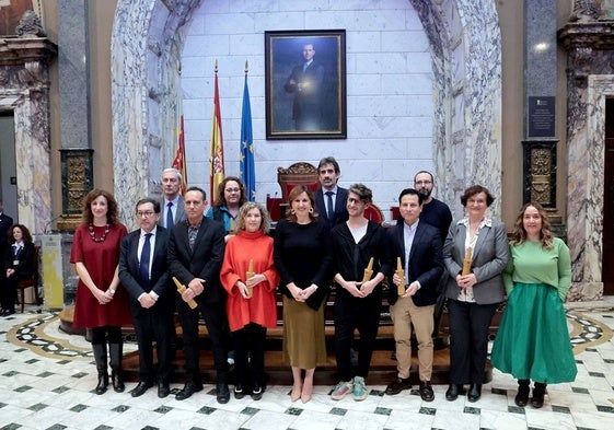
[[[245,88],[243,90],[243,112],[241,114],[241,152],[239,155],[241,181],[245,184],[247,200],[256,200],[256,172],[254,168],[254,139],[252,137],[252,108],[247,89],[247,61],[245,61]]]

